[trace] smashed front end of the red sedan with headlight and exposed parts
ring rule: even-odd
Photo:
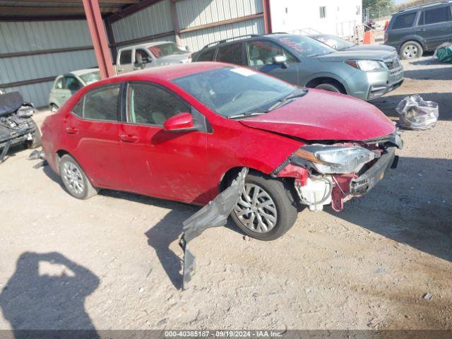
[[[367,141],[307,144],[272,176],[294,178],[299,201],[309,210],[331,204],[333,210],[340,211],[345,201],[370,191],[388,167],[396,167],[396,148],[403,148],[397,130]]]

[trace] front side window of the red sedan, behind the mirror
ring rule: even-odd
[[[190,112],[190,107],[178,97],[148,83],[131,83],[127,102],[127,121],[132,124],[163,126],[169,117]]]

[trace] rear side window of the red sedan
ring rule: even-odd
[[[117,121],[119,89],[120,85],[113,85],[88,92],[81,100],[83,119]],[[74,107],[73,113],[80,116],[78,105]]]

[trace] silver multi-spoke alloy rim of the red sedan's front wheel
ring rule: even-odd
[[[244,227],[258,233],[269,232],[278,221],[275,202],[256,184],[245,184],[234,213]]]

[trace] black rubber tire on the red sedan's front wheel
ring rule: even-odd
[[[276,210],[276,221],[273,228],[269,229],[268,231],[264,232],[258,232],[259,226],[256,225],[256,230],[251,230],[253,227],[247,227],[244,221],[251,220],[251,214],[255,215],[253,222],[255,222],[257,218],[257,215],[262,215],[259,210],[264,210],[265,213],[268,213],[269,210],[266,210],[267,207],[261,208],[261,209],[255,209],[254,212],[251,211],[250,213],[244,214],[241,217],[238,216],[239,210],[244,210],[244,206],[241,205],[242,202],[239,201],[236,208],[231,213],[232,220],[234,220],[235,224],[239,227],[240,230],[242,230],[245,234],[249,235],[249,237],[253,237],[258,240],[263,241],[269,241],[277,239],[285,232],[290,230],[290,228],[295,224],[295,220],[297,220],[298,215],[298,208],[297,203],[295,202],[294,196],[292,195],[292,189],[289,184],[282,182],[278,179],[271,179],[270,177],[264,175],[264,174],[258,174],[258,173],[250,173],[246,176],[245,180],[246,187],[252,187],[251,191],[254,193],[254,189],[256,187],[260,188],[261,190],[265,191],[266,194],[271,198],[271,200],[274,203],[275,210]],[[247,186],[249,185],[249,186]],[[250,194],[251,194],[250,191]],[[244,192],[245,194],[245,192]],[[244,194],[242,194],[242,201],[244,198]],[[263,199],[263,198],[262,198]],[[262,203],[265,203],[266,200],[263,199]],[[270,206],[271,207],[271,206]],[[256,207],[255,207],[256,208]],[[248,219],[246,219],[248,217]],[[262,219],[262,216],[260,217],[260,220]],[[257,220],[257,223],[259,220]]]

